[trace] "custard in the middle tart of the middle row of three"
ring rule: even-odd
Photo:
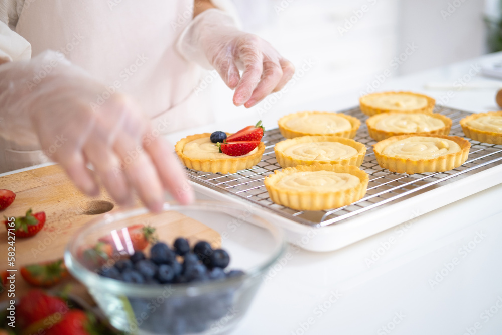
[[[338,142],[298,143],[284,150],[294,159],[311,161],[333,161],[357,155],[357,150]]]

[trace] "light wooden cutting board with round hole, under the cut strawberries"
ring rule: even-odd
[[[70,237],[86,222],[104,215],[105,212],[119,209],[104,189],[101,189],[98,197],[88,197],[82,194],[59,165],[0,177],[0,189],[9,189],[16,193],[14,202],[4,211],[0,211],[2,220],[3,216],[24,215],[29,208],[32,208],[33,212],[44,211],[46,214],[45,226],[37,235],[25,239],[16,238],[16,266],[14,267],[18,269],[16,297],[22,296],[31,287],[19,273],[22,266],[62,258]],[[219,234],[200,222],[181,213],[175,212],[173,215],[176,215],[173,217],[174,237],[185,236],[190,240],[219,241]],[[191,226],[194,229],[190,231],[178,229],[177,231],[180,220],[193,221]],[[9,246],[7,241],[7,231],[0,227],[1,271],[13,269],[7,264],[7,247]],[[74,282],[77,292],[85,292],[83,287],[72,278],[60,283],[59,286],[64,286],[68,282]],[[0,301],[6,299],[7,294],[3,292],[0,295]]]

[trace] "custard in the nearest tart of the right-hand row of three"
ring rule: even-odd
[[[435,158],[459,152],[460,146],[438,137],[412,136],[388,145],[382,154],[405,159]]]

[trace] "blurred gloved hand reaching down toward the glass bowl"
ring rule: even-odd
[[[52,51],[29,62],[3,64],[1,135],[16,143],[38,140],[88,195],[99,194],[86,169],[91,163],[121,205],[133,203],[133,190],[153,211],[161,210],[164,189],[181,203],[190,202],[193,192],[172,147],[151,135],[149,120],[128,97],[115,92],[99,101],[98,96],[107,96],[103,92],[104,85]]]

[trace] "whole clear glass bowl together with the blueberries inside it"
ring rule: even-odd
[[[286,249],[253,205],[165,203],[89,222],[65,251],[70,273],[125,334],[220,334],[245,315]]]

